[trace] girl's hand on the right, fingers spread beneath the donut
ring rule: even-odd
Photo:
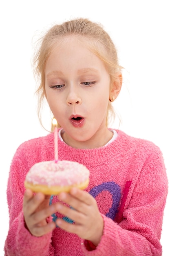
[[[56,224],[67,232],[77,234],[80,238],[91,241],[98,245],[103,234],[104,221],[99,213],[97,202],[92,195],[77,188],[71,189],[70,193],[60,193],[59,200],[70,205],[73,209],[57,203],[57,211],[70,218],[75,223],[68,223],[60,218]]]

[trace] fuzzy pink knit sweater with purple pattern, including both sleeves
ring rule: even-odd
[[[7,187],[10,223],[5,255],[161,255],[159,240],[168,192],[162,154],[149,141],[117,133],[103,148],[75,149],[58,141],[59,159],[77,161],[90,170],[86,191],[95,197],[104,218],[103,236],[96,249],[88,251],[84,240],[58,227],[42,237],[32,236],[24,227],[25,175],[36,162],[53,160],[53,134],[49,134],[24,142],[13,157]],[[55,201],[57,197],[51,197],[51,202]]]

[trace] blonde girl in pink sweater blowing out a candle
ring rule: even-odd
[[[122,83],[115,46],[101,26],[77,19],[52,27],[35,56],[40,103],[57,119],[59,159],[90,170],[85,191],[58,196],[24,189],[36,162],[54,156],[53,133],[23,143],[7,187],[5,255],[161,255],[168,182],[157,146],[108,129]]]

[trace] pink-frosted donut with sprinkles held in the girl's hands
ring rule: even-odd
[[[45,195],[69,192],[72,187],[85,189],[90,172],[83,164],[66,160],[45,161],[34,164],[26,174],[24,186]]]

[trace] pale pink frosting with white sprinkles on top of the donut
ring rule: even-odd
[[[71,161],[46,161],[34,164],[26,175],[26,181],[47,186],[69,186],[85,182],[89,178],[86,166]]]

